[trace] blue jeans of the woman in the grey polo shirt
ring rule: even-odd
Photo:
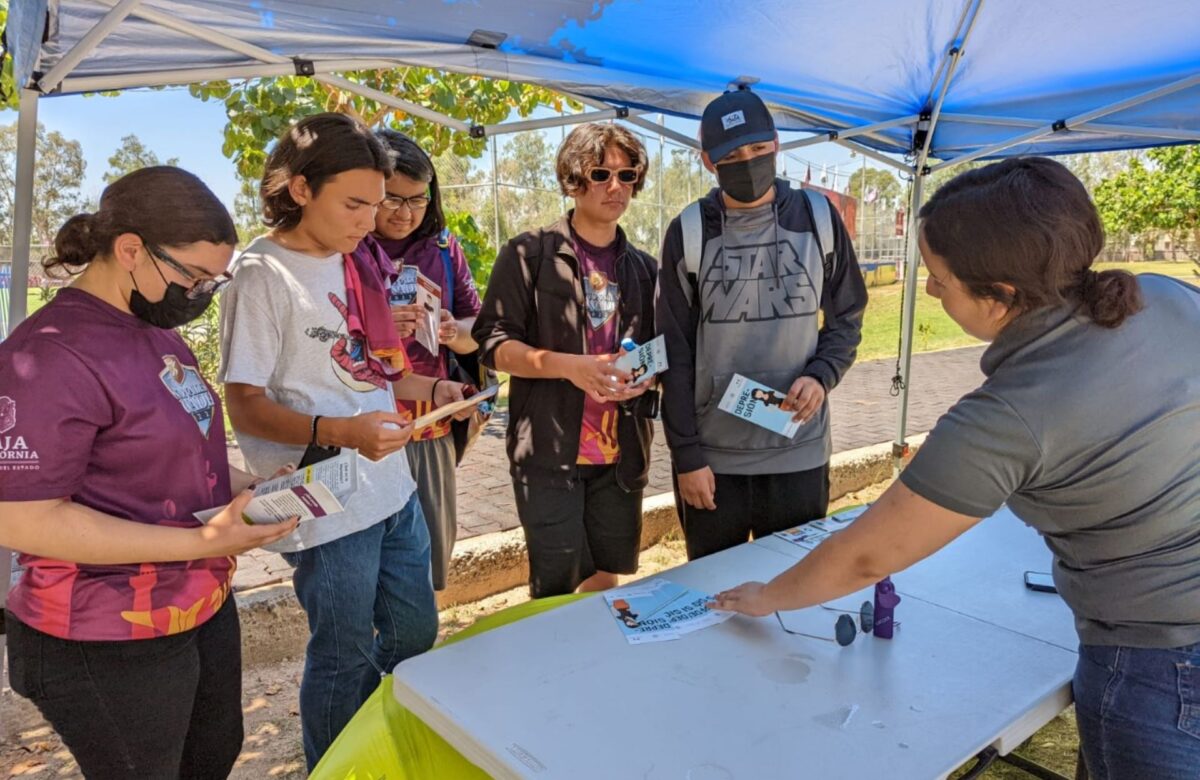
[[[1200,776],[1200,644],[1080,646],[1074,689],[1091,780]]]

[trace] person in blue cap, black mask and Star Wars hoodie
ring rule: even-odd
[[[701,146],[720,186],[671,222],[654,312],[671,366],[662,424],[692,559],[826,515],[826,396],[854,361],[866,307],[838,212],[775,178],[779,137],[757,95],[709,103]],[[733,374],[785,392],[781,408],[799,431],[788,438],[720,410]]]

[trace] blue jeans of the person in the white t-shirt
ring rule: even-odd
[[[391,517],[283,558],[295,568],[296,598],[312,632],[300,683],[304,752],[312,772],[379,678],[433,647],[438,610],[430,532],[413,493]]]

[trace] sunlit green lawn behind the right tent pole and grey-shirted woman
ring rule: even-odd
[[[1176,278],[1198,282],[1196,265],[1190,260],[1154,260],[1148,263],[1097,263],[1096,270],[1126,269],[1134,274],[1162,274]],[[917,293],[917,324],[913,330],[913,352],[934,352],[952,347],[978,344],[977,340],[962,332],[950,319],[942,305],[925,294],[925,277],[919,277],[920,290]],[[868,290],[870,302],[863,317],[863,343],[858,347],[858,360],[895,358],[900,343],[900,300],[902,287],[889,284],[872,287]]]

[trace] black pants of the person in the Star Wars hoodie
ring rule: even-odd
[[[769,536],[800,523],[820,520],[829,509],[829,464],[788,474],[716,474],[715,510],[688,506],[679,497],[674,469],[676,506],[695,560]]]

